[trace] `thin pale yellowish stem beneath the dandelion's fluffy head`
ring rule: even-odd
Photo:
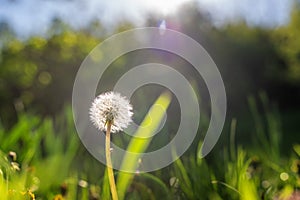
[[[111,156],[110,156],[110,131],[112,122],[107,122],[106,139],[105,139],[105,156],[107,165],[107,174],[110,185],[110,192],[113,200],[118,200],[118,194],[116,189],[116,183],[114,178],[114,172],[112,169]]]

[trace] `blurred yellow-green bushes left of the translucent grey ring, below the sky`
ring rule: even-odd
[[[4,45],[0,55],[0,117],[4,125],[10,127],[16,112],[24,107],[32,109],[34,105],[41,114],[62,109],[70,100],[80,63],[99,41],[87,32],[64,29],[49,38],[14,38]]]

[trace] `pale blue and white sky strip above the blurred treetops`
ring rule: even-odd
[[[174,14],[192,0],[0,0],[0,22],[20,36],[46,33],[54,18],[74,28],[99,19],[106,27],[122,20],[142,26],[146,14]],[[195,0],[216,25],[245,20],[249,25],[276,27],[288,22],[293,0]]]

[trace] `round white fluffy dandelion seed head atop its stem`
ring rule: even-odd
[[[132,121],[132,106],[117,92],[106,92],[95,98],[90,108],[90,119],[102,131],[111,123],[111,132],[124,130]]]

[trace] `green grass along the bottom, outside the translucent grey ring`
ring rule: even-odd
[[[239,119],[233,119],[223,133],[229,143],[204,159],[199,157],[200,140],[164,169],[129,178],[116,172],[125,199],[252,200],[296,195],[300,144],[295,141],[282,153],[280,115],[268,107],[263,94],[261,99],[264,114],[249,98],[252,145],[236,141]],[[12,129],[0,127],[0,144],[0,200],[110,198],[105,166],[80,143],[70,108],[54,119],[19,113]]]

